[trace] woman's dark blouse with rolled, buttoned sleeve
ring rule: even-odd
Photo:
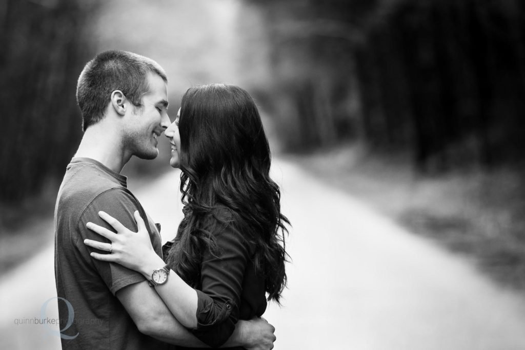
[[[261,316],[266,310],[264,277],[254,266],[255,243],[231,226],[213,232],[218,249],[207,249],[196,286],[197,329],[192,333],[206,345],[219,347],[232,335],[238,320]],[[169,251],[172,242],[164,245]],[[241,348],[238,348],[241,349]]]

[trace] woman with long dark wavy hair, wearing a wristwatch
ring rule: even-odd
[[[139,234],[101,212],[118,235],[89,223],[111,240],[104,246],[110,255],[91,255],[141,272],[179,322],[218,347],[239,319],[264,313],[265,293],[279,302],[289,221],[269,177],[270,148],[259,112],[245,90],[223,84],[188,89],[165,135],[170,164],[182,170],[184,203],[166,262],[153,251],[138,213]]]

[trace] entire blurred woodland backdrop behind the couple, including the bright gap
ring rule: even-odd
[[[519,0],[6,0],[0,202],[62,176],[81,137],[78,74],[109,48],[157,59],[174,111],[190,85],[246,87],[285,150],[353,140],[411,152],[422,170],[516,163],[524,12]],[[156,163],[127,169],[166,156]]]

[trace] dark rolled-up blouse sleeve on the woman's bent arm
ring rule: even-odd
[[[217,249],[204,253],[202,290],[197,290],[197,328],[193,334],[205,344],[219,347],[232,335],[239,318],[240,293],[248,263],[248,242],[236,229],[215,235]]]

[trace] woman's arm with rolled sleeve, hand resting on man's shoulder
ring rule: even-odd
[[[92,253],[91,256],[113,261],[141,272],[151,280],[153,270],[165,265],[155,254],[149,240],[144,239],[145,224],[135,213],[139,234],[129,231],[106,213],[100,216],[107,221],[118,235],[98,225],[88,223],[88,228],[111,240],[107,243],[86,240],[86,244],[111,254]],[[216,237],[216,255],[206,252],[202,263],[202,291],[188,286],[175,272],[170,271],[167,282],[156,286],[159,296],[173,315],[186,327],[194,329],[194,334],[212,346],[223,344],[235,329],[238,319],[238,303],[241,283],[247,260],[247,249],[242,237],[233,231],[225,230]]]

